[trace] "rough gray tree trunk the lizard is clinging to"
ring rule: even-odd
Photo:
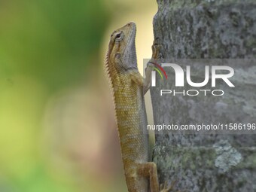
[[[255,0],[157,3],[154,38],[162,45],[163,59],[256,58]],[[238,88],[228,91],[218,102],[208,97],[160,97],[163,84],[151,87],[154,124],[211,123],[221,118],[227,123],[255,122],[256,66],[247,63],[236,67],[245,77],[236,79]],[[174,75],[166,72],[168,78]],[[169,87],[173,84],[169,83]],[[221,113],[223,108],[230,113]],[[176,181],[176,190],[256,191],[255,134],[157,132],[153,159],[160,183]]]

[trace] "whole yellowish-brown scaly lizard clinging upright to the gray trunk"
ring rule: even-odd
[[[144,93],[151,82],[151,67],[146,78],[140,75],[136,58],[136,24],[127,23],[111,34],[105,69],[114,97],[117,130],[129,192],[168,192],[172,187],[159,186],[157,166],[149,160],[147,117]],[[157,59],[157,44],[152,45],[152,58]],[[150,65],[150,64],[149,64]]]

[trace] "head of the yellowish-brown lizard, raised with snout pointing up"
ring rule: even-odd
[[[108,70],[117,72],[137,68],[136,58],[136,24],[127,23],[111,34],[108,44],[107,67]]]

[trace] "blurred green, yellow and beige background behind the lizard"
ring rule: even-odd
[[[108,37],[137,23],[151,57],[154,0],[0,1],[0,191],[126,191],[103,70]]]

